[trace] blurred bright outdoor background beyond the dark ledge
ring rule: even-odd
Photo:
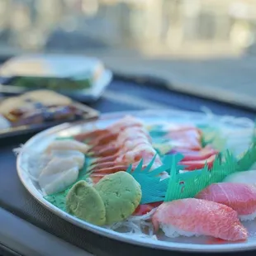
[[[1,55],[95,55],[120,72],[256,96],[256,0],[0,0],[0,12]]]

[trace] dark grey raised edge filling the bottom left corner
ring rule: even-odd
[[[0,255],[92,256],[0,208]],[[28,244],[29,243],[29,244]],[[47,246],[45,246],[47,245]]]

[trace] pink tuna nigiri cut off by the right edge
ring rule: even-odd
[[[256,187],[242,183],[214,183],[197,194],[197,198],[216,201],[237,211],[240,220],[256,217]]]

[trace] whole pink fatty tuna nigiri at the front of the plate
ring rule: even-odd
[[[239,241],[248,237],[236,211],[214,201],[187,198],[164,202],[154,212],[152,223],[168,237],[211,235]]]

